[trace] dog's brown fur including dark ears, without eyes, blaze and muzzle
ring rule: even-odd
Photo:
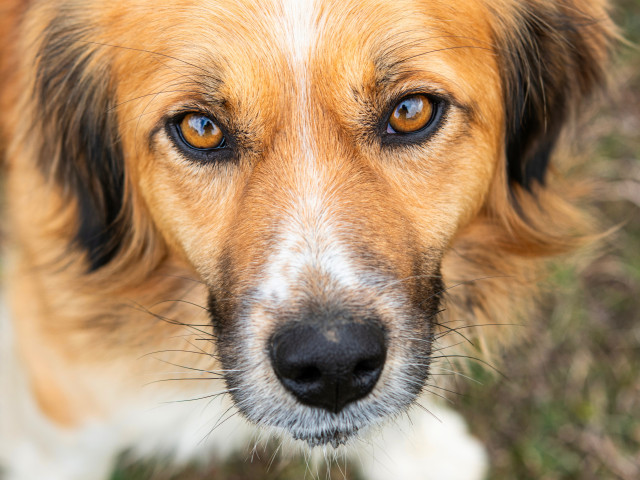
[[[581,214],[545,172],[562,125],[603,80],[612,35],[603,2],[406,2],[429,12],[413,17],[392,2],[368,19],[359,4],[377,2],[327,5],[319,21],[337,33],[316,45],[304,111],[291,108],[295,65],[269,51],[280,45],[277,15],[254,2],[204,13],[187,0],[4,3],[8,296],[33,389],[61,424],[116,408],[147,382],[143,372],[163,369],[149,352],[192,349],[183,323],[213,335],[187,301],[206,305],[209,289],[226,318],[260,281],[273,225],[309,183],[293,161],[304,116],[315,119],[326,209],[348,217],[340,235],[364,263],[408,279],[415,295],[435,286],[412,278],[437,275],[440,263],[445,286],[462,283],[447,290],[440,333],[519,322],[543,259],[578,242]],[[202,15],[206,27],[194,21]],[[363,35],[358,22],[387,33]],[[424,84],[461,105],[420,150],[428,162],[382,148],[367,130],[371,112]],[[213,109],[242,157],[179,158],[158,133],[179,104]],[[327,282],[300,288],[322,296]],[[475,333],[491,344],[511,331]],[[217,365],[215,355],[168,358]]]

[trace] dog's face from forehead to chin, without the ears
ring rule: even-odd
[[[503,156],[501,80],[473,2],[252,5],[173,3],[206,22],[115,53],[125,162],[207,283],[238,407],[340,443],[428,375],[443,252]]]

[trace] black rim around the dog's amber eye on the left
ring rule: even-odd
[[[215,123],[222,132],[222,142],[212,148],[198,148],[191,145],[185,138],[180,128],[180,124],[187,115],[202,115],[209,118]],[[200,110],[185,110],[176,115],[170,117],[165,123],[165,131],[172,140],[173,144],[180,150],[180,152],[189,160],[195,160],[198,162],[213,162],[230,160],[233,156],[233,137],[229,135],[225,126],[219,122],[215,116],[208,112]]]

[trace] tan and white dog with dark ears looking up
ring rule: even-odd
[[[482,478],[419,406],[580,242],[550,166],[603,0],[3,5],[6,478],[380,432],[366,478]]]

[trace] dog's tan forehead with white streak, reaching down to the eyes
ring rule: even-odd
[[[444,0],[144,3],[102,4],[91,20],[101,44],[126,47],[109,50],[119,75],[131,79],[117,86],[121,103],[141,90],[160,92],[122,104],[123,116],[140,115],[145,101],[168,109],[191,98],[257,132],[256,122],[276,126],[285,111],[295,118],[295,105],[354,111],[354,94],[370,101],[403,89],[437,93],[433,85],[470,103],[497,84],[482,0],[455,8]],[[402,83],[412,73],[423,83]],[[487,103],[491,96],[483,93]]]

